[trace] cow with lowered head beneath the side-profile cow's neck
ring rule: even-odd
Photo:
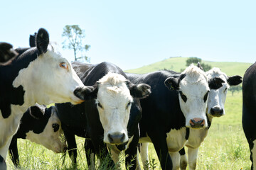
[[[9,154],[12,162],[16,166],[19,165],[18,138],[36,142],[55,153],[61,153],[65,152],[67,147],[62,135],[63,130],[55,106],[50,108],[38,104],[31,106],[23,114],[18,131],[11,140]]]

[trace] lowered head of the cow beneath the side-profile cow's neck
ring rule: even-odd
[[[34,124],[33,130],[26,134],[26,139],[43,145],[53,152],[65,152],[67,145],[55,106],[46,108],[36,105],[28,108],[28,111]]]

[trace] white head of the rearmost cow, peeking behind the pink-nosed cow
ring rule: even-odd
[[[225,115],[224,104],[228,88],[230,86],[240,84],[242,82],[242,77],[228,77],[225,73],[221,72],[219,68],[210,69],[208,72],[206,72],[206,76],[208,79],[219,77],[223,80],[223,86],[220,87],[220,89],[210,89],[206,113],[214,117]]]

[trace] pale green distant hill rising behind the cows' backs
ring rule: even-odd
[[[147,73],[154,72],[159,69],[171,69],[176,72],[181,72],[181,69],[186,68],[186,60],[188,57],[170,57],[169,59],[163,60],[161,62],[156,62],[153,64],[146,65],[144,67],[140,67],[138,69],[129,69],[126,72],[131,73]],[[218,67],[221,71],[228,74],[228,76],[232,75],[240,75],[243,76],[245,71],[252,63],[245,62],[209,62],[202,60],[205,64],[210,64],[211,67]]]

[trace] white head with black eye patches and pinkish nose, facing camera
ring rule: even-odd
[[[178,93],[181,111],[186,118],[186,126],[189,128],[206,128],[206,108],[208,94],[211,89],[222,86],[219,78],[210,79],[205,72],[196,66],[189,66],[179,77],[169,77],[165,85]]]

